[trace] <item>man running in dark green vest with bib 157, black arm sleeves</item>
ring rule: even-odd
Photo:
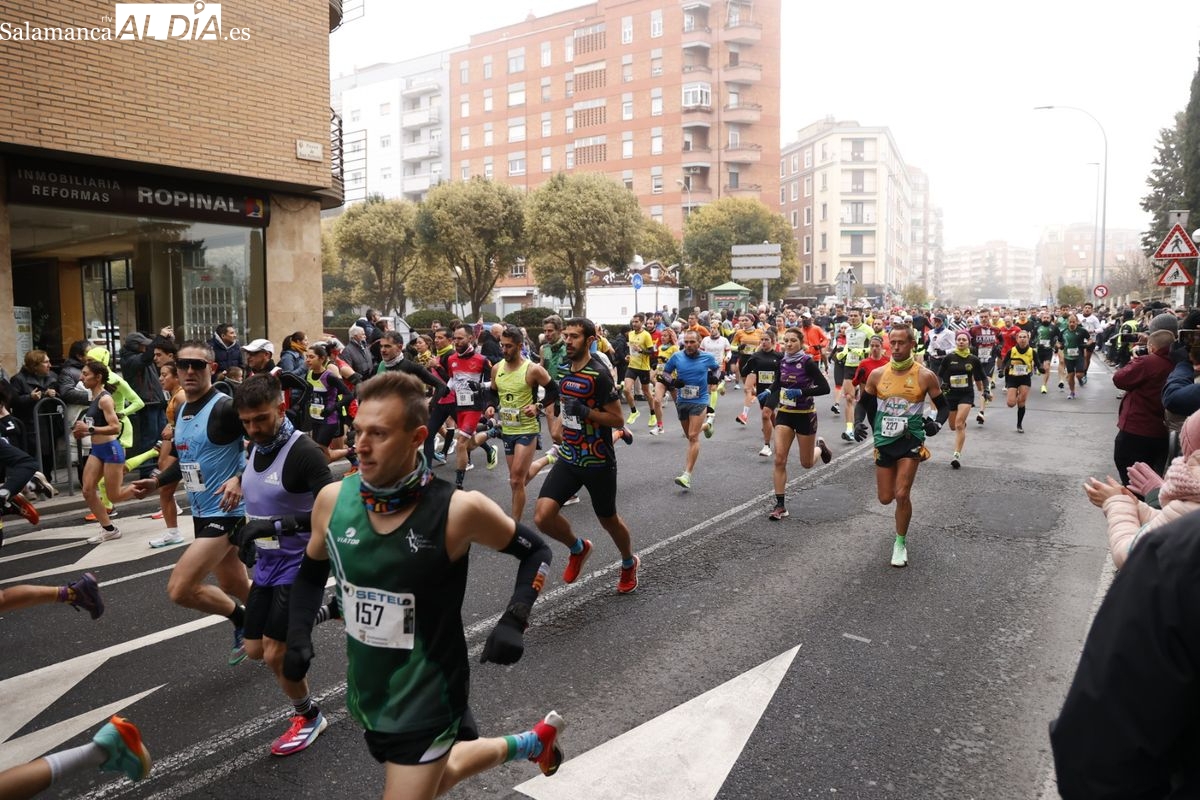
[[[433,798],[518,758],[553,775],[563,760],[564,723],[553,711],[522,734],[478,739],[462,627],[470,546],[520,560],[512,599],[481,656],[505,664],[524,650],[551,553],[482,494],[433,477],[421,457],[427,415],[425,389],[412,375],[385,373],[359,387],[360,471],[317,497],[288,613],[283,676],[299,682],[332,565],[346,610],[346,704],[385,765],[384,798]]]

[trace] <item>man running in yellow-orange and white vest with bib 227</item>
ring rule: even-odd
[[[863,386],[856,410],[854,438],[875,437],[875,486],[882,505],[896,504],[896,537],[892,545],[892,566],[908,565],[908,523],[912,522],[912,483],[917,467],[929,458],[925,438],[936,435],[950,415],[937,375],[913,360],[917,344],[911,327],[894,326],[892,362],[872,372]],[[937,408],[937,420],[925,416],[925,399]],[[866,420],[874,425],[868,427]]]

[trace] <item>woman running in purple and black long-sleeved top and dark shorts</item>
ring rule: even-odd
[[[775,416],[775,507],[767,516],[773,522],[786,518],[787,456],[792,443],[799,444],[800,467],[816,464],[815,449],[821,450],[821,462],[828,464],[833,452],[817,435],[817,414],[814,397],[829,393],[829,381],[821,372],[821,362],[804,351],[804,331],[788,327],[784,332],[784,355],[770,381],[770,402],[778,405]],[[762,392],[760,392],[760,398]]]

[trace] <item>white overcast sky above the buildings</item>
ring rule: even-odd
[[[364,0],[330,37],[332,76],[467,43],[470,34],[577,0]],[[664,0],[664,2],[673,0]],[[782,139],[826,115],[892,130],[930,176],[946,245],[1092,222],[1108,133],[1108,227],[1139,207],[1163,127],[1187,107],[1200,54],[1196,0],[782,0]],[[995,10],[995,11],[994,11]],[[1193,227],[1200,221],[1192,221]]]

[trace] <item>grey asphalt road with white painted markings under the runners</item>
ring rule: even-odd
[[[875,499],[870,450],[835,441],[841,425],[828,399],[820,423],[835,459],[804,473],[793,458],[792,517],[781,523],[766,518],[770,459],[757,455],[756,428],[733,423],[732,396],[690,493],[672,483],[685,445],[677,423],[644,435],[643,410],[634,445],[618,445],[618,509],[643,559],[641,587],[616,594],[616,548],[587,499],[568,509],[596,543],[590,572],[550,584],[518,664],[473,669],[484,735],[560,711],[568,754],[593,770],[590,788],[569,795],[580,800],[1055,796],[1046,724],[1106,581],[1103,519],[1080,488],[1084,476],[1112,471],[1117,403],[1106,378],[1094,365],[1079,399],[1054,385],[1032,396],[1024,435],[1009,409],[990,411],[983,427],[972,421],[961,470],[948,464],[950,431],[932,439],[904,570],[888,565],[892,509]],[[503,463],[487,471],[480,455],[476,464],[468,488],[506,507]],[[226,666],[227,622],[168,602],[180,549],[144,545],[161,523],[126,516],[120,542],[91,546],[78,516],[61,512],[37,533],[6,529],[0,585],[54,584],[94,569],[108,610],[96,622],[58,606],[2,616],[0,764],[86,741],[120,711],[143,728],[156,759],[150,778],[74,776],[54,796],[379,795],[383,769],[347,717],[336,622],[318,630],[311,673],[331,726],[310,751],[272,758],[289,706],[262,666]],[[562,546],[554,558],[558,575]],[[512,576],[508,557],[473,553],[463,608],[473,654]],[[749,727],[716,702],[678,711],[796,648],[778,685],[739,690],[738,702],[762,704]],[[677,730],[634,739],[672,709],[662,724]],[[718,774],[712,792],[686,781],[704,770]],[[565,774],[509,764],[451,796],[524,796],[515,787],[535,776],[530,794],[557,796],[553,782],[566,786]],[[652,789],[641,774],[674,788]]]

